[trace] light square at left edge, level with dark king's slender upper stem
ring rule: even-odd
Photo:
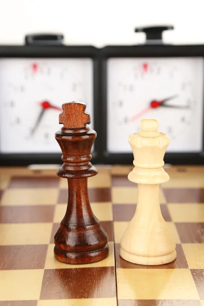
[[[3,194],[1,205],[53,205],[57,202],[58,192],[57,188],[7,189]]]

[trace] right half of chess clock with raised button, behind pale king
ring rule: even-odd
[[[140,131],[142,118],[157,119],[159,131],[169,135],[166,163],[204,162],[204,45],[163,44],[168,29],[137,28],[146,33],[144,45],[101,50],[107,163],[132,163],[128,138]]]

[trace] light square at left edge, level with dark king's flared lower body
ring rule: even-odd
[[[0,224],[0,245],[49,244],[52,223]]]

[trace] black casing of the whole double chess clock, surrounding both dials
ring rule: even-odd
[[[0,46],[0,58],[91,58],[93,59],[94,144],[92,162],[97,164],[132,164],[133,154],[109,154],[107,151],[107,59],[138,57],[203,57],[204,45],[132,45],[93,46],[23,45]],[[204,84],[203,84],[204,88]],[[0,89],[1,90],[1,89]],[[203,95],[204,96],[204,95]],[[204,103],[204,100],[203,100]],[[203,108],[204,109],[204,108]],[[87,111],[89,111],[87,109]],[[203,114],[204,118],[204,114]],[[202,135],[204,126],[202,126]],[[133,131],[134,132],[134,131]],[[9,135],[8,135],[9,137]],[[204,148],[204,135],[203,135]],[[165,163],[204,164],[200,153],[166,153]],[[27,166],[30,164],[61,164],[61,154],[1,154],[0,166]]]

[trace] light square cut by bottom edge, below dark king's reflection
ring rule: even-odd
[[[39,300],[37,306],[117,306],[116,297]]]

